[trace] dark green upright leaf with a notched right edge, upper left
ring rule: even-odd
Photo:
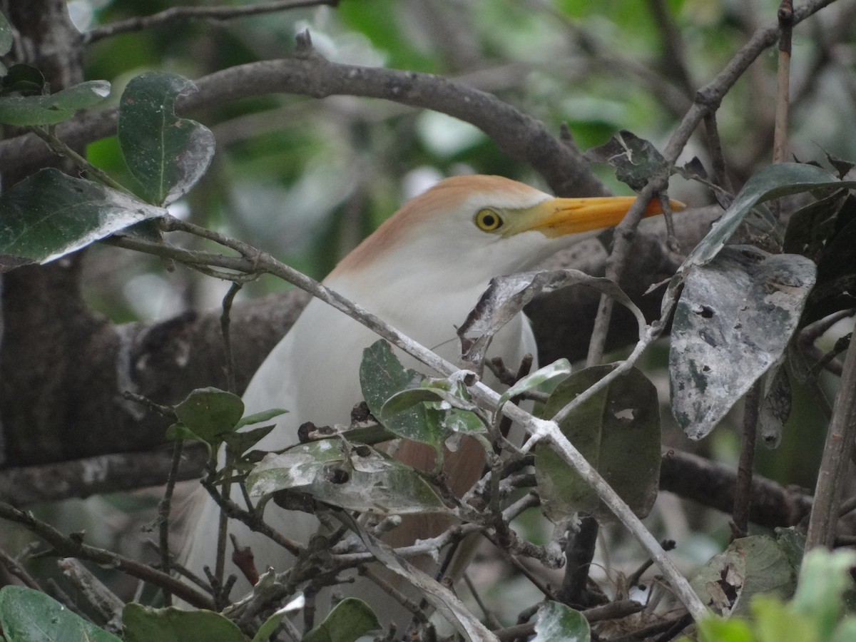
[[[214,156],[214,134],[175,115],[175,98],[196,91],[175,74],[142,74],[132,79],[119,104],[119,145],[143,197],[171,203],[199,181]]]

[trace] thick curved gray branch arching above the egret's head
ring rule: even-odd
[[[250,96],[291,93],[383,98],[439,111],[473,124],[502,152],[531,164],[558,196],[607,193],[571,140],[557,139],[541,122],[493,94],[433,74],[330,62],[312,49],[307,33],[298,38],[294,57],[230,67],[196,85],[199,91],[181,96],[176,109],[187,112]],[[87,113],[62,123],[56,134],[69,146],[86,145],[115,134],[117,118],[117,108]],[[0,172],[40,167],[50,158],[50,150],[33,134],[0,142]]]

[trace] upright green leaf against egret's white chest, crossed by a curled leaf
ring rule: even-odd
[[[369,410],[378,419],[383,416],[383,404],[390,397],[401,390],[418,388],[424,378],[419,372],[401,366],[401,361],[383,339],[363,350],[360,386]],[[383,425],[399,437],[428,443],[435,449],[443,445],[443,431],[428,421],[422,405],[411,405],[407,410],[390,414]]]

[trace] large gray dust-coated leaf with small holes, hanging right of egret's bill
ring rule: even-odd
[[[688,437],[707,435],[782,359],[815,273],[804,257],[730,246],[687,275],[675,308],[669,383],[672,412]]]

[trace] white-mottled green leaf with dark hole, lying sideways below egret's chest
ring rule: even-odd
[[[413,468],[341,439],[301,443],[266,457],[247,477],[247,490],[251,496],[299,490],[334,506],[376,514],[447,511]]]

